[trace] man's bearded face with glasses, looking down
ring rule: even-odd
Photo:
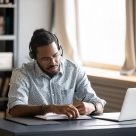
[[[41,68],[50,74],[59,71],[60,52],[55,42],[37,48],[36,60]]]

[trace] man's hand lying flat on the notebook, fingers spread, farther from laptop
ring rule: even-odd
[[[70,119],[75,119],[80,116],[78,109],[74,107],[72,104],[70,105],[51,105],[50,112],[54,112],[57,114],[65,114]]]

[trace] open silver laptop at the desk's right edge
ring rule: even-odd
[[[128,88],[125,94],[121,112],[102,113],[94,115],[94,118],[109,121],[128,121],[136,119],[136,88]]]

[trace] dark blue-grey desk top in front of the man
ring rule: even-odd
[[[0,136],[135,136],[136,122],[119,125],[104,120],[61,121],[61,124],[27,126],[0,120]]]

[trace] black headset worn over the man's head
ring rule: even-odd
[[[44,30],[44,31],[47,32],[47,33],[49,33],[50,35],[52,35],[52,36],[54,37],[55,43],[57,44],[57,48],[58,48],[58,50],[61,50],[61,56],[63,56],[63,48],[62,48],[62,46],[59,44],[59,40],[58,40],[57,36],[56,36],[55,34],[49,32],[49,31],[46,31],[46,30]],[[33,39],[35,39],[35,38],[36,38],[36,37],[32,37],[31,41],[32,41]],[[31,59],[36,59],[36,53],[32,50],[32,44],[31,44],[31,42],[30,42],[30,44],[29,44],[29,56],[30,56]]]

